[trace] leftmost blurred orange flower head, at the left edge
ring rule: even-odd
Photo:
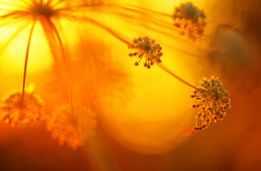
[[[35,93],[12,93],[1,105],[1,120],[11,125],[30,124],[43,118],[43,103]]]

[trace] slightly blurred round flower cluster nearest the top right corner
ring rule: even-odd
[[[193,6],[192,2],[181,3],[181,6],[175,7],[172,17],[174,26],[182,29],[181,34],[186,34],[192,40],[203,35],[206,15],[203,10]]]

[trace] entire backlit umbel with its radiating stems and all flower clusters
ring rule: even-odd
[[[19,5],[16,5],[19,4]],[[40,120],[43,115],[43,105],[39,102],[36,95],[33,93],[26,93],[26,72],[27,72],[27,63],[29,52],[31,48],[31,38],[33,36],[33,31],[36,28],[36,24],[40,23],[43,27],[43,31],[46,35],[46,40],[51,49],[55,64],[59,63],[59,59],[62,59],[65,69],[64,72],[67,81],[68,87],[68,97],[70,101],[70,106],[66,105],[62,108],[58,108],[50,115],[50,118],[47,118],[47,127],[52,131],[53,138],[58,138],[60,145],[63,145],[65,142],[69,147],[76,149],[78,146],[84,144],[84,142],[93,135],[93,130],[96,125],[95,115],[86,110],[85,107],[75,105],[72,98],[72,86],[70,86],[71,78],[69,76],[69,64],[68,58],[65,54],[65,47],[63,43],[63,38],[60,36],[59,28],[63,27],[63,24],[60,25],[60,19],[65,19],[68,21],[78,21],[93,24],[97,27],[102,28],[103,30],[110,33],[110,35],[117,38],[119,41],[129,45],[129,49],[135,50],[134,53],[129,53],[129,56],[137,57],[139,60],[134,64],[135,66],[139,65],[139,62],[142,58],[145,58],[144,67],[151,68],[154,63],[158,64],[164,71],[177,78],[179,81],[186,83],[186,85],[191,86],[195,89],[195,92],[191,97],[195,97],[198,100],[196,105],[193,105],[194,108],[199,108],[200,112],[197,115],[197,118],[201,118],[202,125],[193,128],[188,133],[196,132],[196,130],[202,130],[208,127],[211,120],[215,122],[216,120],[222,120],[225,116],[225,110],[230,108],[229,104],[225,105],[226,93],[225,91],[219,90],[221,86],[218,86],[218,82],[213,86],[214,90],[209,90],[209,95],[211,98],[204,100],[201,98],[208,94],[208,90],[203,88],[195,88],[191,84],[183,81],[183,79],[176,76],[174,73],[166,69],[161,64],[161,46],[154,41],[154,39],[148,38],[147,36],[134,38],[132,43],[126,41],[122,36],[119,36],[119,33],[113,31],[112,28],[109,28],[105,24],[102,24],[99,20],[93,19],[90,16],[87,16],[85,11],[92,9],[92,7],[109,7],[114,9],[121,9],[126,11],[132,11],[135,14],[144,14],[144,11],[151,10],[144,8],[135,8],[131,9],[126,6],[117,6],[112,4],[106,4],[105,1],[95,0],[80,0],[80,1],[68,1],[68,0],[18,0],[6,1],[4,4],[0,4],[0,19],[1,27],[9,26],[9,24],[16,24],[20,21],[25,21],[24,24],[19,26],[14,26],[14,33],[10,33],[9,38],[6,38],[6,42],[2,43],[6,47],[17,35],[21,33],[24,28],[28,27],[31,24],[31,30],[28,35],[26,54],[25,54],[25,64],[23,70],[23,87],[21,93],[14,93],[4,100],[3,105],[1,105],[1,119],[5,120],[11,125],[16,125],[19,122],[21,123],[32,123],[35,120]],[[78,13],[82,11],[82,13]],[[106,11],[106,10],[105,10]],[[109,12],[110,13],[110,12]],[[114,13],[112,10],[111,14]],[[156,12],[155,14],[161,14]],[[166,14],[161,14],[168,16]],[[119,16],[125,16],[119,13]],[[129,17],[126,15],[126,17]],[[204,27],[206,26],[206,15],[202,10],[199,10],[196,6],[193,6],[191,2],[186,4],[181,4],[181,6],[176,7],[174,15],[174,26],[182,28],[183,34],[188,35],[189,38],[195,40],[197,37],[203,35]],[[130,19],[134,17],[130,16]],[[153,23],[153,21],[151,22]],[[156,24],[156,23],[154,23]],[[57,26],[60,27],[57,27]],[[66,29],[65,29],[66,30]],[[206,86],[206,85],[205,85]],[[207,86],[206,86],[207,87]],[[204,87],[205,88],[205,87]],[[217,88],[217,90],[215,90]],[[222,88],[221,88],[222,89]],[[213,95],[214,94],[214,95]],[[217,94],[217,95],[216,95]],[[212,95],[212,96],[211,96]],[[218,96],[219,95],[219,96]],[[223,98],[220,97],[223,95]],[[208,96],[208,95],[207,95]],[[205,96],[204,96],[205,97]],[[219,98],[215,98],[219,97]],[[214,99],[214,100],[213,100]],[[206,103],[207,101],[207,103]],[[230,100],[228,100],[230,102]],[[215,102],[215,105],[214,105]],[[222,103],[222,106],[218,106]],[[210,106],[208,110],[203,106]],[[218,108],[219,107],[219,108]],[[203,115],[201,115],[204,113]],[[205,116],[206,115],[206,116]],[[215,118],[217,117],[217,118]]]

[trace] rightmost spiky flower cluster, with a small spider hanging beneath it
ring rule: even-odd
[[[226,110],[230,108],[230,98],[218,78],[214,76],[210,80],[203,78],[200,83],[191,98],[198,101],[193,105],[193,108],[199,110],[196,118],[200,118],[203,125],[208,126],[211,121],[216,123],[216,120],[223,120]]]

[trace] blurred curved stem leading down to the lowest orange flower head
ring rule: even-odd
[[[65,71],[66,71],[66,75],[67,75],[67,84],[68,84],[68,94],[69,94],[69,100],[70,100],[70,106],[71,106],[71,109],[72,109],[72,113],[73,113],[73,95],[72,95],[72,86],[70,84],[70,76],[69,76],[69,67],[68,67],[68,61],[66,59],[66,56],[65,56],[65,50],[64,50],[64,46],[63,46],[63,41],[62,41],[62,38],[60,38],[60,34],[58,32],[58,29],[56,28],[55,24],[48,20],[48,24],[50,25],[51,28],[53,28],[53,31],[55,33],[55,36],[57,37],[58,39],[58,43],[60,45],[60,50],[61,50],[61,53],[62,53],[62,57],[63,57],[63,61],[64,61],[64,64],[65,64]]]

